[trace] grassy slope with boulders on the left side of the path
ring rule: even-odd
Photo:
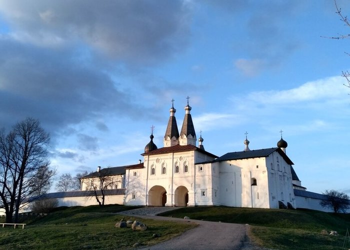
[[[134,208],[134,207],[132,207]],[[193,228],[193,223],[122,216],[121,205],[58,207],[43,217],[26,217],[24,229],[0,228],[0,249],[128,249],[136,242],[151,245]],[[114,228],[120,219],[139,220],[146,231]],[[153,238],[153,233],[160,237]]]

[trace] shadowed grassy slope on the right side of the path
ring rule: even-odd
[[[163,216],[249,224],[253,243],[273,249],[342,249],[350,214],[315,210],[238,208],[225,206],[184,207]],[[335,230],[339,236],[321,234]],[[347,248],[350,248],[349,239]]]

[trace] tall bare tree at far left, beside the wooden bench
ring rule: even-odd
[[[48,143],[48,133],[30,117],[16,123],[8,134],[0,131],[0,205],[6,222],[17,221],[23,201],[39,189],[42,193],[54,174],[48,167]]]

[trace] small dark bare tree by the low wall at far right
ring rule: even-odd
[[[332,208],[334,212],[350,208],[349,196],[346,193],[332,189],[325,190],[322,194],[327,196],[326,199],[319,202],[322,207]]]

